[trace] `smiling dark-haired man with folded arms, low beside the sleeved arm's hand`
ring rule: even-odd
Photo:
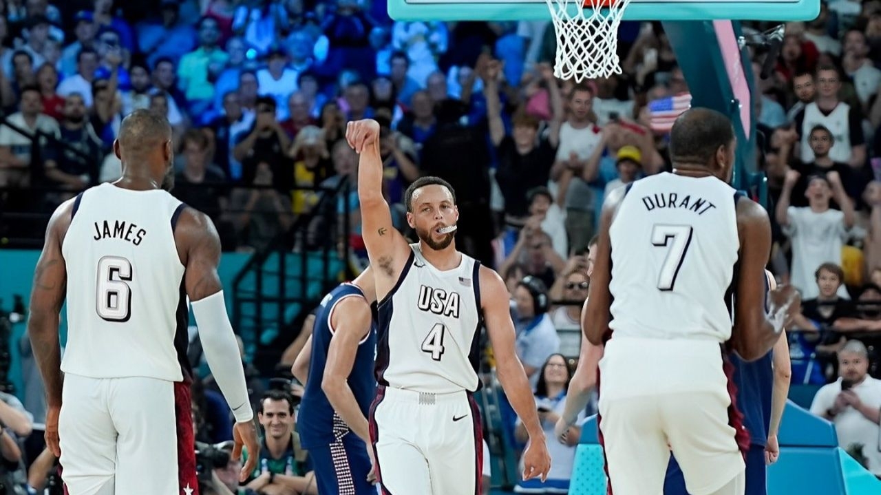
[[[294,432],[293,405],[293,396],[285,390],[269,390],[260,400],[257,419],[263,441],[247,488],[266,495],[318,495],[315,474],[303,466],[306,451]],[[247,450],[241,454],[242,461],[254,455]]]

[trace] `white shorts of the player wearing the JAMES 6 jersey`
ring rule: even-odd
[[[70,495],[191,495],[189,401],[189,382],[66,374],[58,436]]]

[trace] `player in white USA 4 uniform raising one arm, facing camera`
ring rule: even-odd
[[[458,211],[446,181],[423,177],[405,193],[409,245],[392,226],[382,196],[380,126],[349,122],[346,139],[360,154],[358,196],[367,255],[379,299],[371,410],[384,494],[480,493],[483,442],[477,403],[478,331],[485,323],[502,387],[529,432],[524,479],[544,481],[551,458],[529,381],[515,354],[515,330],[501,277],[455,249]]]

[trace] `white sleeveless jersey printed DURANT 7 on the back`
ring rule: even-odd
[[[614,336],[729,339],[735,195],[715,177],[664,173],[633,183],[609,231]]]

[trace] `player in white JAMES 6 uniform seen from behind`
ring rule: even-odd
[[[28,333],[46,386],[46,442],[61,456],[71,495],[197,490],[188,297],[211,373],[236,418],[233,457],[242,445],[259,449],[217,273],[218,233],[208,217],[168,194],[171,139],[165,117],[147,110],[126,117],[114,143],[122,178],[58,207],[34,272]],[[242,480],[256,460],[248,458]]]

